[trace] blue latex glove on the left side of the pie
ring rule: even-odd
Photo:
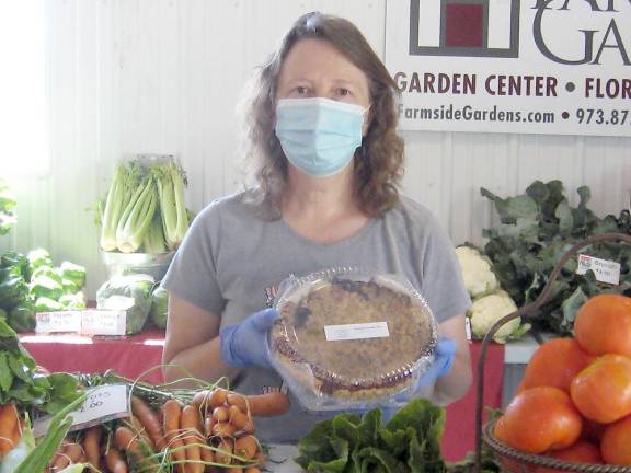
[[[223,361],[237,368],[253,365],[272,368],[265,337],[277,316],[276,309],[265,309],[241,323],[221,328],[219,339]]]

